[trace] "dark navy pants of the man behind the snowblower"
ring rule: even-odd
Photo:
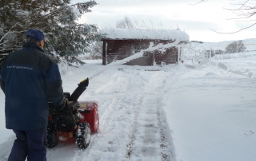
[[[46,161],[46,131],[41,128],[32,131],[14,130],[17,139],[11,149],[8,161]]]

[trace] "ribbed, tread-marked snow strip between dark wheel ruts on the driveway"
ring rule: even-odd
[[[152,98],[154,97],[154,100]],[[123,160],[171,160],[173,158],[162,118],[160,96],[144,95],[131,125],[130,142]]]

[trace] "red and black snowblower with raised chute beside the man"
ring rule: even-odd
[[[98,102],[78,102],[88,82],[88,78],[81,81],[71,95],[64,92],[67,103],[62,110],[58,111],[49,102],[46,147],[55,147],[58,143],[77,143],[80,149],[86,149],[90,144],[91,132],[98,132]]]

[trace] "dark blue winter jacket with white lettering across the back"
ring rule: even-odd
[[[0,85],[6,96],[6,128],[29,131],[47,126],[48,100],[63,102],[62,79],[55,61],[28,42],[2,63]]]

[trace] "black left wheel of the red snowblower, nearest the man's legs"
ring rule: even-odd
[[[52,124],[47,124],[46,147],[52,148],[58,145],[58,134]]]

